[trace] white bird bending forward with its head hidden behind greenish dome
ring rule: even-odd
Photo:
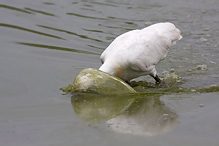
[[[124,81],[150,75],[160,83],[155,65],[166,57],[168,49],[181,38],[180,30],[169,22],[126,32],[115,38],[101,54],[103,64],[99,70]]]

